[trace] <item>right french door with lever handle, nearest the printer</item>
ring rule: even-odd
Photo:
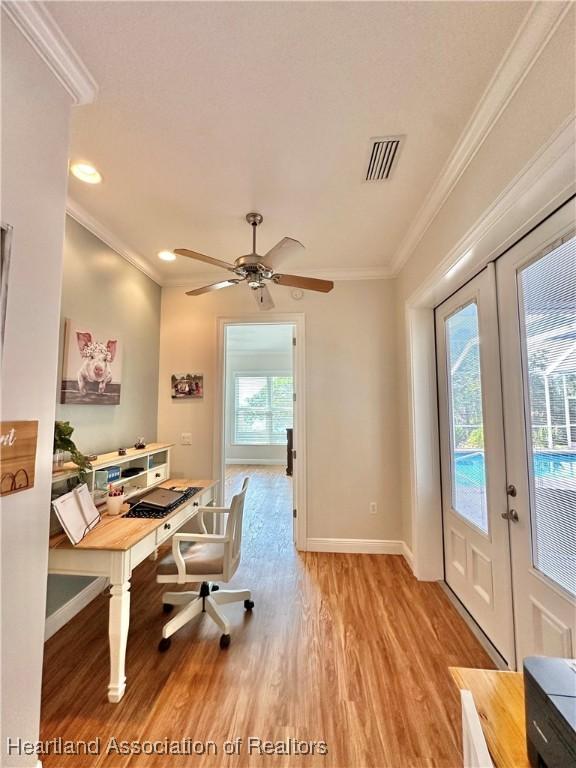
[[[565,206],[496,263],[516,646],[576,652],[576,236]]]

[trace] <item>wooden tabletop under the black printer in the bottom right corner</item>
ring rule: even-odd
[[[522,673],[464,667],[450,672],[459,688],[472,692],[496,768],[530,768]]]

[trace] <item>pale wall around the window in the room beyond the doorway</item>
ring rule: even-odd
[[[286,465],[286,445],[237,445],[234,443],[234,380],[238,373],[292,373],[292,339],[281,352],[228,352],[226,355],[226,445],[228,463]]]

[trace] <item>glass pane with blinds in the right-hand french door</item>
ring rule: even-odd
[[[576,238],[518,279],[533,563],[576,595]]]

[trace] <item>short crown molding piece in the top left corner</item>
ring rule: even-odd
[[[6,13],[36,53],[46,62],[75,104],[89,104],[98,85],[42,2],[2,2]]]

